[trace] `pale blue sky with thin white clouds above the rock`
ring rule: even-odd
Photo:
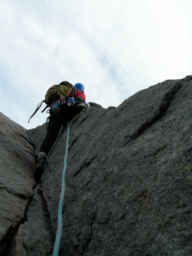
[[[192,0],[0,0],[0,112],[26,129],[46,121],[41,107],[28,124],[61,81],[108,108],[187,75]]]

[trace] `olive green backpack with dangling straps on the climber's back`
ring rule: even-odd
[[[45,99],[39,103],[37,106],[35,112],[32,114],[32,116],[29,118],[29,120],[37,113],[37,111],[41,108],[41,105],[43,102],[47,104],[47,106],[44,108],[42,113],[48,108],[53,102],[57,101],[58,99],[61,98],[61,96],[67,97],[71,90],[73,90],[73,85],[70,84],[68,81],[62,81],[60,84],[54,84],[52,87],[50,87],[47,90],[47,93],[45,95]],[[29,123],[29,121],[28,121]]]

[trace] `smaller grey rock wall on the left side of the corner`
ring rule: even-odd
[[[27,131],[0,113],[0,255],[52,255],[47,204],[33,177],[35,149]]]

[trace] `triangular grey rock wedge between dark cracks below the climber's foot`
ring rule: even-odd
[[[52,255],[55,237],[52,229],[50,229],[47,203],[38,189],[40,187],[38,188],[35,185],[34,194],[26,205],[23,218],[15,228],[11,227],[8,230],[6,240],[4,239],[6,244],[4,247],[0,246],[1,249],[3,248],[3,250],[0,250],[0,255],[20,256],[21,252],[22,255],[29,255],[31,250],[32,255]],[[35,212],[40,214],[35,217]],[[36,220],[36,218],[38,219]],[[33,248],[35,244],[37,247]],[[40,246],[38,247],[38,245]]]

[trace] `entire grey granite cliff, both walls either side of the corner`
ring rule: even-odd
[[[40,195],[44,125],[26,131],[1,114],[0,127],[0,255],[52,255],[67,129]],[[87,109],[70,127],[60,254],[190,256],[191,195],[192,76]]]

